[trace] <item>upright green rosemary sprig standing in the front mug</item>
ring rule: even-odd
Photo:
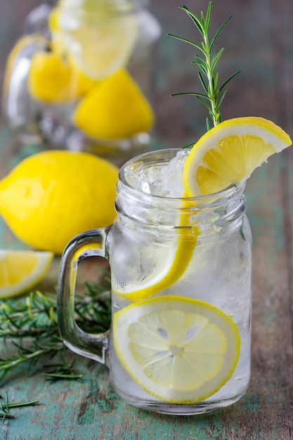
[[[200,18],[198,18],[193,12],[190,11],[186,6],[179,6],[179,8],[183,9],[188,16],[193,20],[193,23],[197,27],[197,30],[202,35],[202,43],[196,44],[194,41],[190,41],[189,39],[185,39],[182,37],[177,37],[176,35],[169,34],[170,37],[174,37],[181,41],[185,41],[188,44],[191,44],[197,51],[200,51],[200,55],[195,55],[195,60],[192,62],[193,64],[199,67],[198,77],[200,79],[200,84],[204,89],[204,93],[197,92],[185,92],[185,93],[174,93],[172,96],[178,95],[193,95],[199,101],[201,101],[209,111],[209,117],[211,121],[214,123],[214,126],[219,124],[222,120],[220,107],[223,103],[223,98],[226,96],[227,90],[224,90],[228,82],[235,77],[240,70],[231,75],[228,79],[226,79],[221,86],[219,85],[219,72],[216,72],[216,66],[219,63],[219,60],[223,54],[224,48],[221,48],[219,51],[216,50],[213,52],[214,44],[216,39],[219,37],[219,34],[223,30],[223,28],[227,25],[233,15],[227,18],[223,25],[216,32],[214,37],[209,39],[209,27],[211,23],[211,11],[214,3],[212,1],[209,2],[207,7],[207,14],[204,16],[204,13],[201,11]],[[207,117],[207,130],[211,128],[209,118]]]

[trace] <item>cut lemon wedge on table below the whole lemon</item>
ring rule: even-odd
[[[32,289],[46,275],[52,259],[52,252],[0,250],[0,298]]]

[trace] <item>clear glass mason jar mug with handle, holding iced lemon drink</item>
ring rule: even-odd
[[[67,347],[108,365],[122,399],[188,415],[247,390],[252,239],[243,186],[199,198],[169,193],[177,171],[166,179],[166,170],[178,155],[145,153],[120,169],[115,223],[78,235],[63,253],[58,321]],[[111,268],[112,325],[103,335],[74,321],[77,266],[93,255]]]

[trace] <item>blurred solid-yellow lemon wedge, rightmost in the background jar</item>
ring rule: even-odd
[[[128,138],[154,123],[148,100],[126,70],[99,82],[77,105],[74,125],[93,138]]]

